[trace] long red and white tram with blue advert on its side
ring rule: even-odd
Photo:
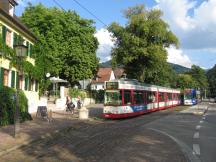
[[[129,79],[105,82],[105,118],[127,118],[179,104],[180,90]]]

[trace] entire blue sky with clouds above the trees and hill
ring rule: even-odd
[[[204,69],[216,64],[216,0],[17,0],[16,14],[20,16],[28,2],[42,3],[46,7],[75,10],[81,17],[95,21],[99,41],[97,56],[100,62],[111,58],[114,42],[106,25],[117,22],[124,26],[127,20],[122,11],[128,7],[144,4],[147,9],[160,9],[163,20],[178,37],[180,47],[167,48],[167,61],[185,67],[195,64]],[[80,7],[78,1],[88,11]],[[95,18],[95,16],[97,18]]]

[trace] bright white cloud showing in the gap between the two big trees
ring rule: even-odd
[[[99,48],[97,50],[97,56],[100,58],[100,62],[105,62],[111,59],[111,50],[114,47],[114,40],[112,34],[105,28],[101,28],[95,34],[98,39]]]

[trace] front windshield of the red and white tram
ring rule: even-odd
[[[121,91],[106,91],[104,104],[105,105],[121,105],[122,104]]]

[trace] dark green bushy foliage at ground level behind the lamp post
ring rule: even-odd
[[[8,125],[14,123],[14,113],[16,108],[16,101],[14,100],[16,91],[9,87],[2,87],[0,89],[0,125]],[[25,94],[19,91],[19,108],[20,120],[31,120],[28,113],[28,101]]]

